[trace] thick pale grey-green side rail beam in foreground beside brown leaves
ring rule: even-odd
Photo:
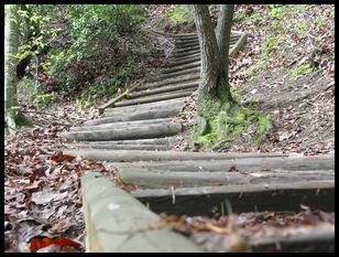
[[[83,175],[81,196],[87,251],[201,251],[183,235],[156,228],[160,217],[155,213],[98,172]]]

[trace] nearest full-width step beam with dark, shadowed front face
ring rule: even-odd
[[[175,215],[221,214],[221,204],[229,200],[236,213],[298,212],[300,204],[326,212],[335,211],[335,181],[297,183],[221,185],[194,189],[139,190],[132,195],[155,213]],[[174,196],[175,195],[175,196]]]

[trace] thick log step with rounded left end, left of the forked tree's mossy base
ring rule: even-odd
[[[68,140],[77,141],[107,141],[122,139],[143,139],[174,136],[182,131],[182,125],[175,122],[144,125],[131,128],[69,131],[62,136]]]

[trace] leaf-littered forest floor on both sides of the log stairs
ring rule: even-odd
[[[278,7],[240,6],[237,9],[233,29],[248,33],[248,44],[231,58],[232,92],[240,105],[271,115],[275,130],[272,137],[258,146],[249,140],[254,135],[250,126],[248,131],[234,137],[231,143],[219,146],[215,151],[302,154],[335,152],[333,7],[303,8],[303,17],[298,15],[302,10],[297,8],[288,11]],[[66,142],[58,136],[61,132],[98,117],[95,107],[79,110],[75,106],[75,101],[69,100],[41,111],[25,108],[25,114],[37,125],[22,128],[14,136],[6,136],[7,251],[30,251],[31,238],[43,237],[72,238],[84,246],[79,178],[87,170],[116,171],[108,171],[99,161],[72,158],[57,150],[63,149]],[[178,117],[188,128],[178,138],[178,150],[196,150],[189,148],[188,141],[192,139],[196,95],[190,97],[187,109],[189,113],[186,116]],[[122,189],[131,190],[131,185],[116,182]],[[255,221],[260,223],[262,216],[249,215],[243,218],[252,218],[254,225]],[[270,213],[263,215],[271,215],[273,219],[276,217]],[[309,223],[309,217],[303,214],[293,215],[294,218],[289,219],[286,216],[285,224],[300,222],[300,218]],[[325,219],[333,223],[333,215],[324,216],[322,219],[317,217],[311,222]],[[206,223],[215,224],[209,227],[216,229],[216,226],[222,225],[222,219],[205,219]],[[281,223],[280,219],[280,226]],[[61,244],[57,249],[47,251],[84,250],[84,247],[64,247]]]

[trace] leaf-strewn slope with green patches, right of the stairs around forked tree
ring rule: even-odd
[[[237,10],[233,30],[245,32],[248,43],[231,57],[231,90],[240,106],[270,115],[274,129],[258,146],[251,140],[256,131],[253,124],[212,150],[335,152],[333,22],[328,6],[304,8],[305,17],[297,15],[295,7],[281,10],[284,17],[278,18],[270,17],[263,6]],[[252,12],[244,14],[247,10]],[[197,151],[189,147],[196,105],[195,94],[187,103],[187,115],[178,117],[188,131],[178,137],[176,149]]]

